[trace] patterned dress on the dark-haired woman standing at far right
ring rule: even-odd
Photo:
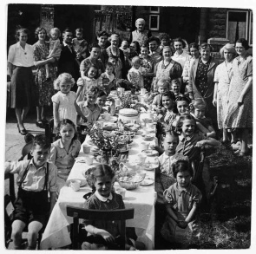
[[[246,86],[248,77],[253,76],[253,57],[246,55],[243,62],[239,57],[233,60],[233,78],[228,93],[228,107],[225,125],[228,128],[253,127],[253,88],[250,88],[238,107],[238,99]]]

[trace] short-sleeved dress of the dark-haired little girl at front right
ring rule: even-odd
[[[185,220],[191,209],[200,205],[200,190],[190,184],[187,188],[180,188],[177,183],[163,192],[165,203],[170,205],[178,220]],[[190,221],[185,229],[181,229],[174,218],[167,215],[166,221],[161,229],[161,235],[168,242],[189,244],[192,235],[199,234],[197,220]]]

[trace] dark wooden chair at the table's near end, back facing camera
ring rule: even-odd
[[[134,218],[135,209],[119,209],[111,211],[98,211],[91,209],[84,209],[75,206],[67,206],[67,215],[73,217],[73,229],[71,232],[72,249],[80,250],[81,244],[79,238],[79,218],[92,220],[120,220],[121,223],[121,250],[125,250],[126,242],[126,219]]]

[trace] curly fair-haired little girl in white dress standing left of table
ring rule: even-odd
[[[51,97],[53,102],[54,132],[62,119],[68,118],[76,125],[76,112],[86,120],[75,101],[75,92],[70,89],[75,84],[75,80],[69,73],[62,73],[54,82],[54,88],[59,90]]]

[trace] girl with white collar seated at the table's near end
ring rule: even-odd
[[[115,172],[110,166],[98,165],[89,173],[89,182],[93,194],[84,203],[84,208],[94,210],[124,209],[121,195],[113,190]],[[82,243],[82,250],[117,250],[120,222],[84,220],[85,230],[88,231],[88,242]],[[127,238],[126,250],[135,251],[141,243]]]

